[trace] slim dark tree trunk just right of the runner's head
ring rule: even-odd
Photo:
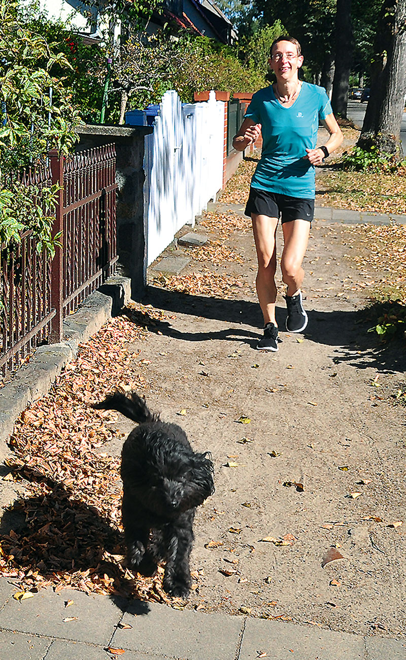
[[[351,0],[337,0],[335,15],[335,71],[331,106],[333,112],[347,118],[351,64],[353,62],[353,26]]]

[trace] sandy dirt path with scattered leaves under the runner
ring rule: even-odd
[[[351,228],[316,221],[304,264],[308,328],[281,332],[279,352],[261,354],[242,207],[217,205],[196,230],[209,248],[168,249],[191,256],[189,266],[177,279],[152,281],[151,271],[132,317],[145,329],[121,341],[116,325],[110,340],[110,350],[121,342],[110,361],[122,360],[125,382],[213,455],[216,492],[197,514],[187,607],[404,633],[405,408],[394,397],[406,389],[405,356],[366,333],[362,308],[376,273],[345,256],[356,250]],[[105,380],[118,384],[110,373]],[[71,394],[96,396],[83,380]],[[118,457],[130,428],[119,420],[102,456]],[[328,552],[343,558],[323,568]]]

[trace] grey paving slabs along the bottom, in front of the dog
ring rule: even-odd
[[[0,580],[1,660],[405,660],[406,642],[249,616],[46,591],[18,603]],[[73,601],[66,607],[68,601]],[[71,620],[67,620],[71,619]],[[121,651],[119,655],[106,649]]]

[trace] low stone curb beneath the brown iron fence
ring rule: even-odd
[[[17,371],[13,381],[0,390],[0,459],[5,457],[4,441],[13,432],[18,415],[32,401],[48,392],[63,367],[76,356],[79,344],[118,313],[130,298],[130,292],[129,278],[111,277],[86,298],[75,314],[63,321],[66,339],[60,344],[38,347],[28,364]]]

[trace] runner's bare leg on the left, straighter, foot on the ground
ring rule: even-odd
[[[275,319],[275,302],[277,299],[275,234],[277,226],[278,218],[269,218],[267,215],[252,213],[252,228],[258,259],[258,273],[255,284],[264,325],[267,323],[277,325]]]

